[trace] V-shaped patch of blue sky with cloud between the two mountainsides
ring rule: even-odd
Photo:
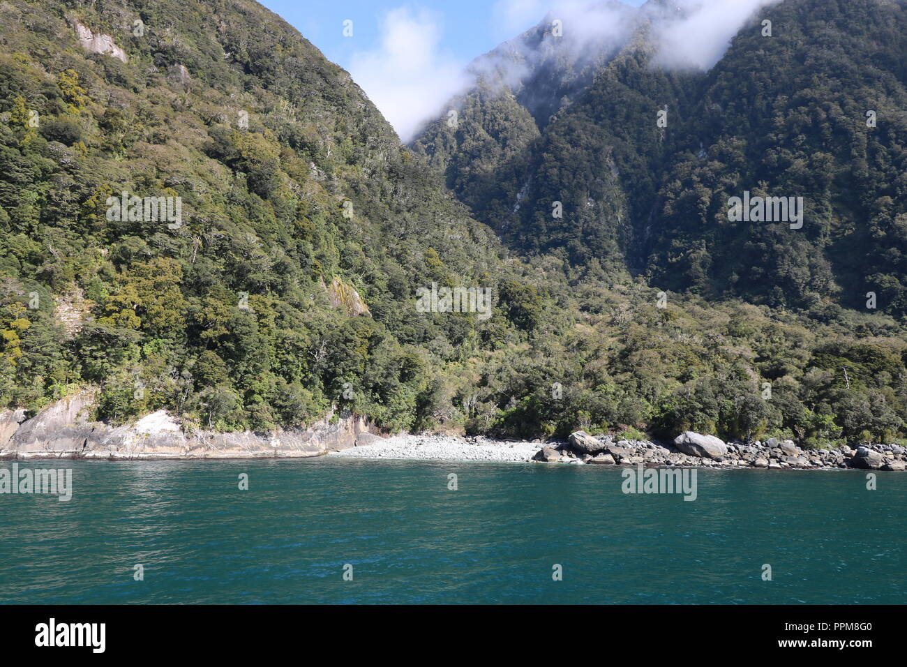
[[[538,24],[555,5],[593,1],[259,0],[352,74],[404,141],[463,90],[473,58]],[[352,36],[344,34],[347,20]]]

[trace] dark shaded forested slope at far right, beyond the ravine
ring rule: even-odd
[[[873,291],[903,316],[907,5],[787,0],[765,16],[774,36],[741,31],[680,130],[652,275],[817,314],[828,302],[865,309]],[[803,197],[803,228],[729,222],[727,201],[744,191]]]

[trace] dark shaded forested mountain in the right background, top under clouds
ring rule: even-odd
[[[475,69],[495,74],[453,101],[458,126],[430,124],[414,149],[523,252],[820,318],[835,306],[865,309],[872,291],[877,309],[902,318],[907,5],[769,5],[707,71],[658,62],[653,33],[676,20],[670,5],[640,8],[607,62],[582,61],[597,68],[593,82],[551,118],[522,100],[532,99],[527,86],[545,96],[555,83],[538,85],[533,73],[512,87],[490,65],[506,70],[508,60],[484,56]],[[571,53],[571,25],[562,31],[546,20],[522,40],[544,44],[531,54]],[[729,198],[746,191],[802,197],[803,227],[729,221]]]

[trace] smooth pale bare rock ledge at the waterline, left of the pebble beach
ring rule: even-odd
[[[0,457],[6,458],[247,458],[320,456],[356,444],[372,427],[364,417],[324,417],[308,428],[274,433],[186,434],[164,411],[111,427],[90,420],[94,392],[44,408],[19,424],[24,411],[0,413]],[[14,430],[15,426],[15,430]],[[10,436],[5,434],[12,433]]]

